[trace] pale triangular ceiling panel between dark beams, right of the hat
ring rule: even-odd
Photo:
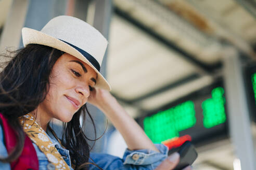
[[[197,72],[179,54],[118,16],[110,26],[107,68],[113,93],[128,100]]]

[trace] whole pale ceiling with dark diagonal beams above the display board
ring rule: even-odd
[[[113,2],[108,79],[136,117],[220,78],[226,43],[255,56],[255,19],[236,1]]]

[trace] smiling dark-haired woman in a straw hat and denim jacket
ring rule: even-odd
[[[0,74],[2,168],[22,169],[23,146],[27,148],[31,141],[29,155],[32,159],[36,154],[39,169],[87,169],[88,165],[90,169],[155,169],[167,158],[167,147],[153,145],[109,93],[110,86],[99,73],[107,40],[96,29],[82,20],[59,16],[41,31],[23,28],[22,39],[24,48]],[[87,102],[101,109],[124,137],[129,149],[123,159],[89,154],[88,138],[79,123],[81,115],[91,118]],[[17,139],[11,151],[5,118]],[[53,118],[66,123],[61,141],[49,127]],[[177,162],[174,154],[158,169],[168,163],[173,168]]]

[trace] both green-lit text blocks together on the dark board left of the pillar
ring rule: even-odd
[[[174,137],[180,137],[180,135],[186,135],[184,132],[192,132],[193,129],[207,134],[208,131],[213,132],[212,129],[223,128],[223,126],[217,125],[226,122],[224,89],[216,87],[209,93],[208,97],[201,100],[200,103],[197,100],[197,114],[195,103],[188,100],[144,118],[145,133],[153,143],[161,143]]]

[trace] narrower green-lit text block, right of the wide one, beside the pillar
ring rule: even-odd
[[[203,126],[211,128],[226,121],[224,89],[221,87],[212,90],[212,98],[202,103]]]

